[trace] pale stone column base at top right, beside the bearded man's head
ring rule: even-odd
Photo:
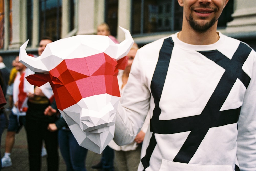
[[[236,0],[234,2],[233,21],[227,23],[226,31],[255,32],[256,31],[256,5],[255,0]]]

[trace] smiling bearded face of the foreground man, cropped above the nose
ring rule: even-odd
[[[178,0],[178,2],[183,6],[183,15],[189,25],[196,31],[205,32],[216,23],[228,0]]]

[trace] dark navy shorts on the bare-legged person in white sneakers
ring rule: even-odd
[[[17,115],[14,115],[13,112],[9,115],[9,125],[8,125],[8,131],[13,131],[18,133],[23,125],[26,123],[26,116],[19,116],[19,119]]]

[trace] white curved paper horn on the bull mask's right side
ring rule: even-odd
[[[115,58],[116,60],[119,60],[119,59],[123,58],[124,56],[126,56],[134,43],[130,32],[128,30],[124,29],[123,27],[120,27],[120,28],[125,33],[125,40],[122,41],[120,44],[115,44],[118,47],[117,53],[116,53],[116,58]]]

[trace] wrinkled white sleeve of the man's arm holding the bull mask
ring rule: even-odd
[[[118,145],[131,143],[140,131],[150,106],[150,92],[141,65],[140,50],[134,58],[129,79],[118,105],[113,140]]]

